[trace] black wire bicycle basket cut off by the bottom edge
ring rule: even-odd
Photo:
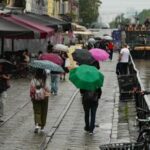
[[[112,143],[100,145],[100,150],[142,150],[144,143]]]

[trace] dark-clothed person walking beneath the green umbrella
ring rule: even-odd
[[[95,91],[82,90],[82,104],[85,120],[84,130],[89,132],[90,135],[93,134],[95,128],[96,111],[101,94],[101,88]]]

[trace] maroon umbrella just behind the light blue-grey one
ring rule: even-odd
[[[57,65],[62,65],[63,60],[58,54],[44,53],[40,56],[40,60],[49,60]]]

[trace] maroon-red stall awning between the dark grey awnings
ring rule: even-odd
[[[52,28],[46,27],[40,23],[35,23],[33,21],[17,17],[17,15],[3,16],[3,18],[7,21],[32,30],[34,32],[34,38],[46,38],[54,33]]]

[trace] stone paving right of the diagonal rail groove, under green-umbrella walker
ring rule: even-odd
[[[119,90],[115,73],[117,58],[117,54],[114,54],[113,61],[101,63],[105,81],[97,110],[96,124],[99,124],[99,127],[95,129],[95,134],[90,136],[83,130],[84,112],[78,94],[47,150],[98,150],[100,144],[130,142],[127,128],[121,130],[126,134],[118,138]]]

